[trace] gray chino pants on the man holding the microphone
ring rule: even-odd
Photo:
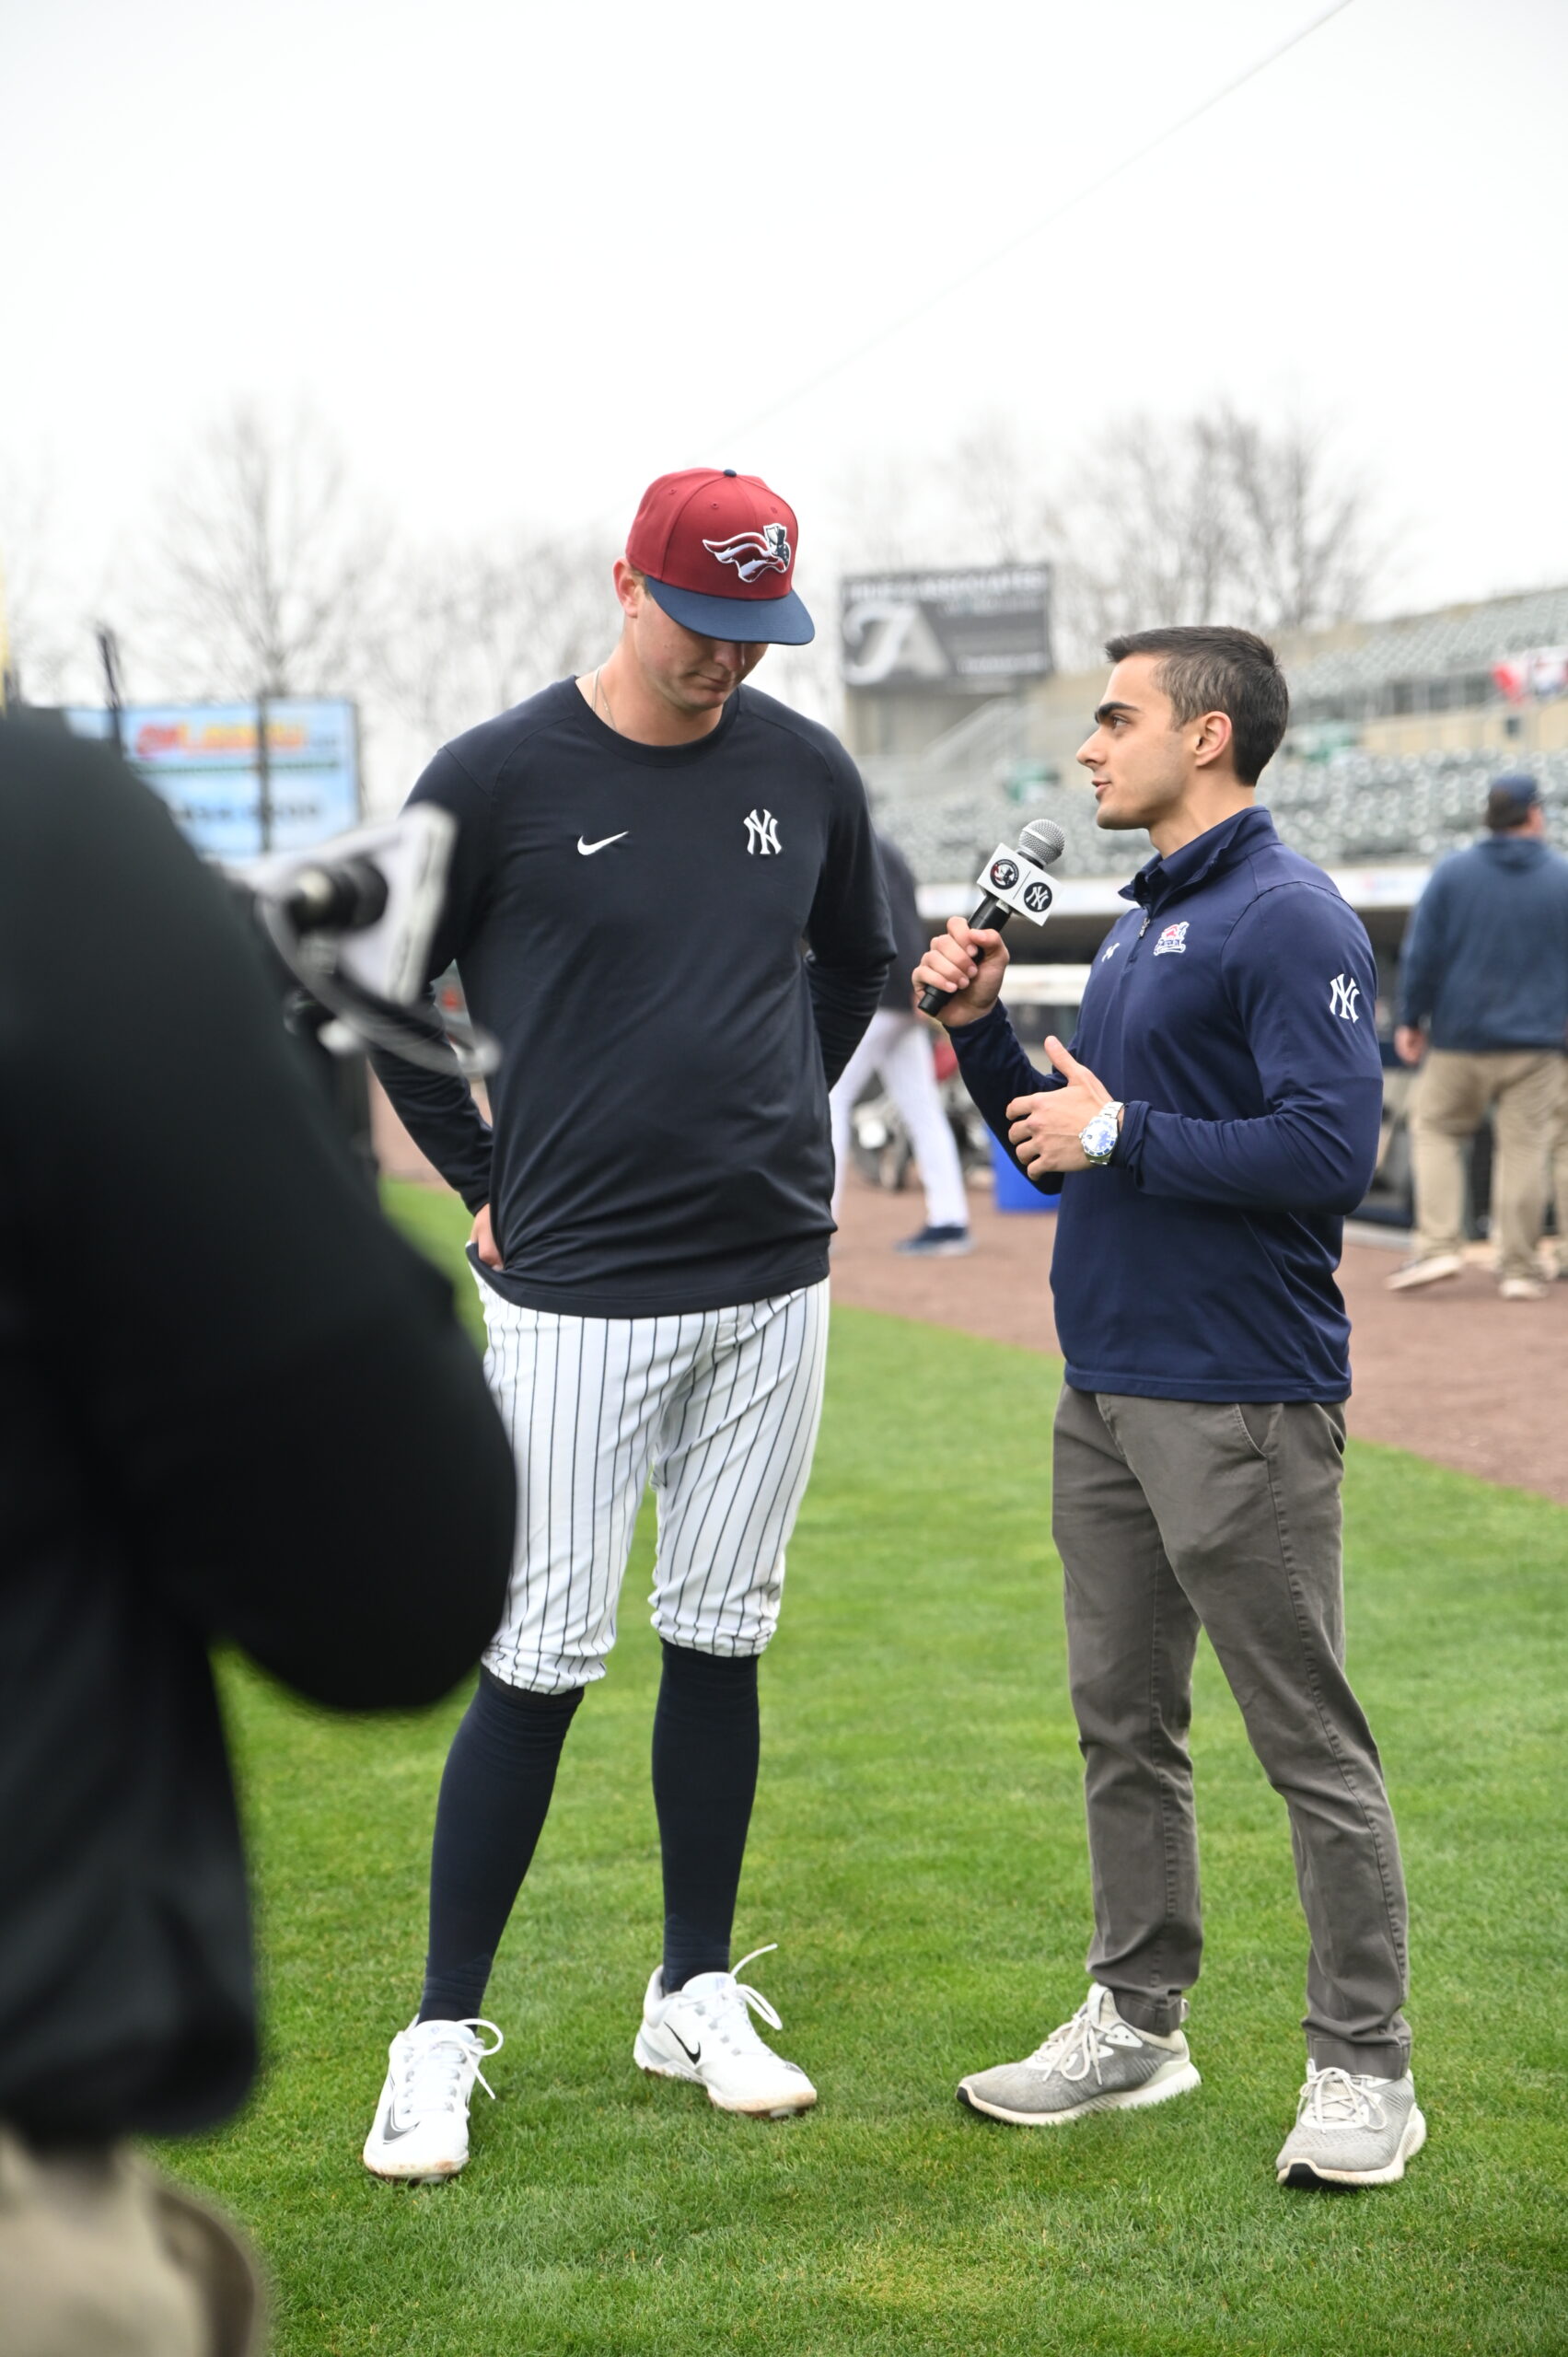
[[[1054,1537],[1085,1756],[1089,1973],[1137,2029],[1181,2020],[1203,1909],[1191,1725],[1203,1626],[1290,1810],[1320,2067],[1410,2055],[1405,1883],[1377,1744],[1344,1676],[1344,1412],[1063,1386]]]

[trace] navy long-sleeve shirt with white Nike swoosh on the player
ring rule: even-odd
[[[488,1127],[457,1070],[377,1072],[523,1308],[663,1318],[816,1285],[828,1089],[894,943],[861,775],[738,688],[696,745],[639,745],[571,679],[446,745],[457,820],[431,971],[502,1047]],[[806,955],[809,950],[809,955]]]

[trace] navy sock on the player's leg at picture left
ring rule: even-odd
[[[580,1685],[566,1695],[528,1695],[479,1671],[436,1803],[422,2022],[467,2022],[483,2003],[580,1702]]]

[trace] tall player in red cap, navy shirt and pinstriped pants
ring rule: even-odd
[[[474,1211],[521,1511],[441,1780],[424,1994],[365,2143],[384,2178],[467,2161],[472,2086],[500,2046],[479,2011],[490,1961],[615,1643],[648,1478],[665,1945],[634,2058],[729,2112],[816,2102],[757,2036],[750,2013],[778,2015],[731,1973],[729,1940],[757,1659],[821,1412],[828,1089],[891,936],[854,764],[745,686],[771,643],[813,634],[795,556],[795,514],[757,476],[660,476],[615,563],[611,658],[472,728],[415,787],[457,820],[434,971],[457,962],[502,1042],[490,1124],[455,1070],[382,1077]]]

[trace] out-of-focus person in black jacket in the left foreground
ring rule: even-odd
[[[125,2147],[255,2069],[207,1648],[436,1699],[500,1612],[512,1454],[224,891],[118,761],[14,724],[0,1402],[0,2345],[229,2357],[248,2263]]]

